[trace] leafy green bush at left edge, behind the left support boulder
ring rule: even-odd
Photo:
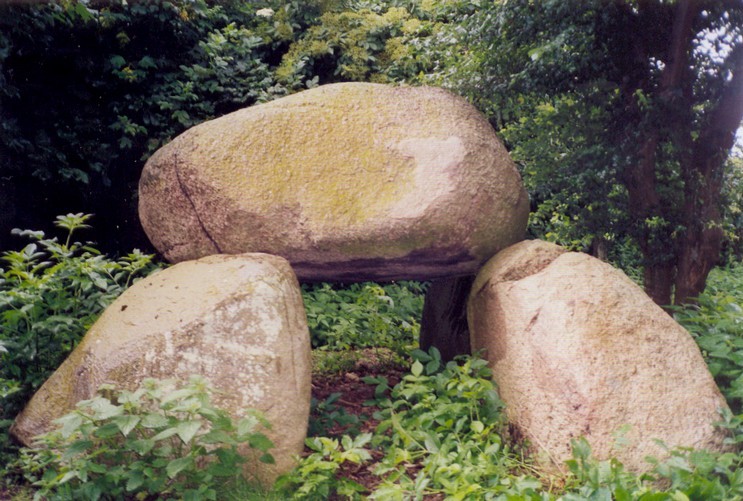
[[[103,310],[133,281],[155,269],[138,250],[109,259],[90,243],[73,241],[90,215],[57,217],[62,243],[44,232],[14,230],[32,243],[5,252],[0,268],[0,451],[4,433]]]

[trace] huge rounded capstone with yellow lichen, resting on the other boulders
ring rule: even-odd
[[[472,274],[528,198],[492,127],[442,89],[344,83],[205,122],[147,162],[142,225],[170,261],[287,258],[300,280]]]

